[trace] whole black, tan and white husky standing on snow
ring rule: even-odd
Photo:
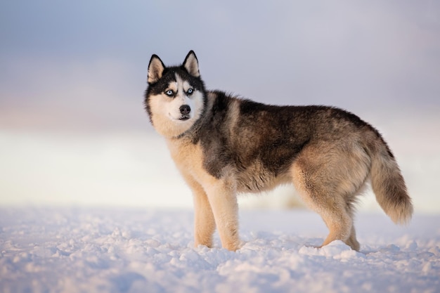
[[[323,218],[330,233],[321,246],[342,240],[359,249],[354,205],[368,181],[392,221],[413,214],[396,159],[373,126],[338,108],[207,91],[193,51],[174,67],[151,57],[145,110],[193,191],[195,246],[212,247],[218,228],[224,248],[240,248],[237,194],[285,183]]]

